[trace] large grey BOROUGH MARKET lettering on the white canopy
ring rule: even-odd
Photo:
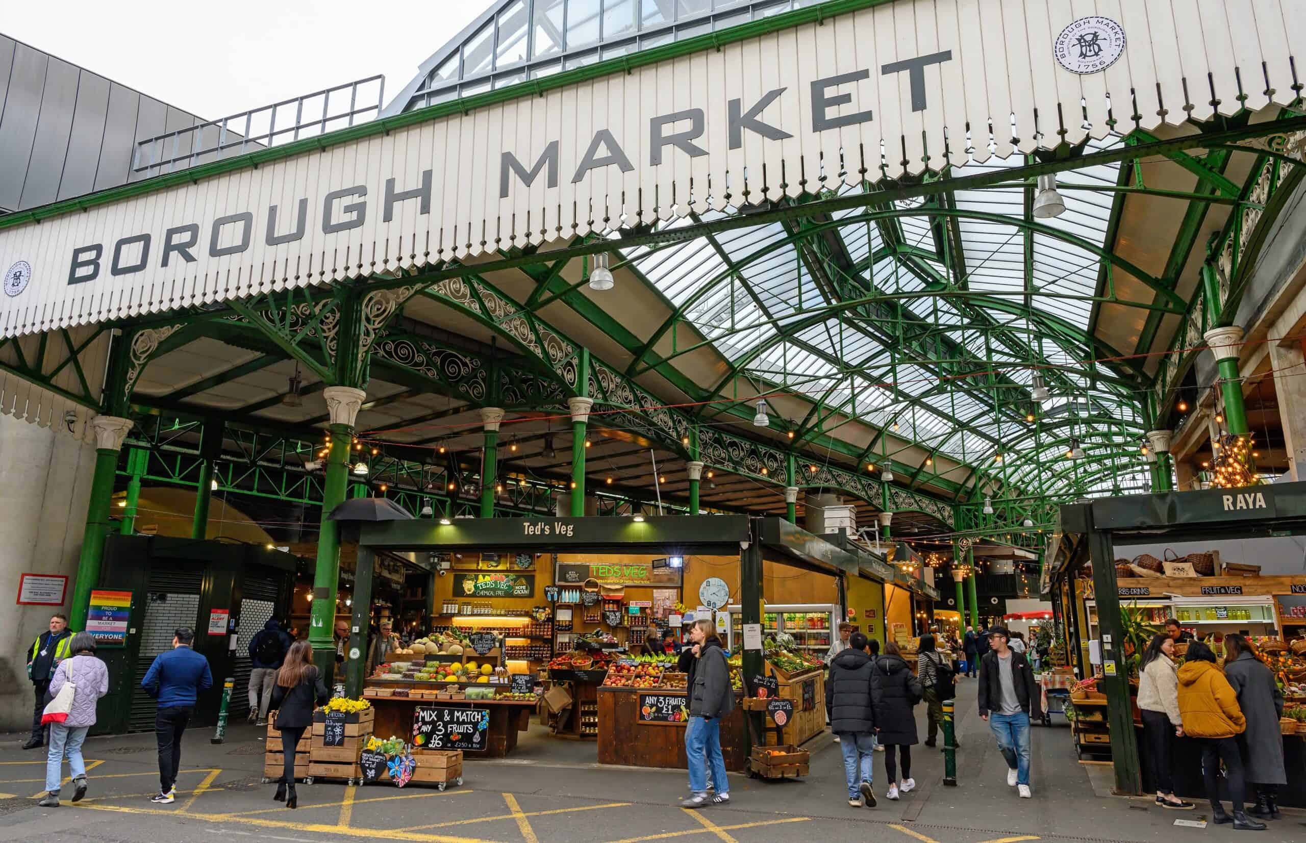
[[[925,69],[932,64],[951,60],[952,52],[946,50],[884,64],[880,67],[880,74],[906,73],[912,111],[925,111],[929,107]],[[825,132],[872,120],[871,110],[840,112],[841,106],[854,106],[850,86],[868,78],[871,78],[871,72],[862,69],[814,80],[808,97],[812,130]],[[751,132],[768,141],[782,141],[793,137],[790,132],[767,123],[763,117],[763,112],[767,110],[777,111],[773,107],[774,103],[788,91],[788,87],[769,90],[756,102],[748,103],[747,107],[743,99],[729,100],[725,115],[729,147],[731,150],[742,147],[744,132]],[[789,95],[795,94],[789,93]],[[703,108],[687,108],[652,117],[648,123],[648,166],[660,167],[666,163],[670,154],[667,147],[679,150],[690,158],[707,155],[708,150],[695,142],[707,132],[707,121],[708,115]],[[559,141],[549,141],[528,170],[515,153],[503,151],[499,166],[499,197],[508,197],[513,176],[529,188],[543,174],[547,185],[556,188],[562,166],[560,155]],[[629,172],[635,168],[620,140],[611,130],[601,128],[590,138],[571,180],[573,184],[579,183],[592,171],[611,166],[618,167],[622,172]],[[387,179],[380,202],[381,219],[390,222],[396,206],[409,201],[418,202],[419,214],[430,214],[431,184],[432,170],[423,170],[421,183],[415,185],[397,185],[396,179]],[[316,206],[315,224],[320,226],[321,232],[328,235],[360,227],[367,221],[368,196],[368,185],[366,184],[332,191],[323,197],[320,206]],[[255,236],[260,235],[266,245],[295,243],[302,240],[308,231],[308,210],[310,197],[300,197],[289,209],[270,205],[261,219],[256,219],[253,211],[244,210],[218,217],[205,228],[201,228],[199,222],[189,222],[166,228],[162,234],[146,231],[129,235],[115,241],[107,254],[104,243],[80,245],[72,252],[68,283],[82,284],[95,281],[106,269],[111,277],[132,275],[144,271],[151,261],[157,262],[161,269],[195,264],[197,252],[206,253],[209,257],[240,254],[248,251]]]

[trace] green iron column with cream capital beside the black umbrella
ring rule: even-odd
[[[367,393],[353,386],[328,386],[323,390],[330,414],[330,449],[326,452],[326,482],[323,487],[321,529],[317,534],[317,565],[313,570],[313,608],[308,643],[313,662],[324,679],[336,672],[336,589],[340,585],[340,522],[329,515],[345,500],[349,483],[350,444],[354,423]],[[328,685],[330,682],[328,681]]]

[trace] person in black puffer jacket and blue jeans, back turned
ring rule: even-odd
[[[875,757],[875,711],[871,707],[871,669],[875,663],[866,651],[866,636],[859,632],[848,639],[848,649],[829,663],[825,680],[825,715],[838,735],[844,752],[844,778],[848,780],[848,804],[875,808],[871,789],[871,759]]]

